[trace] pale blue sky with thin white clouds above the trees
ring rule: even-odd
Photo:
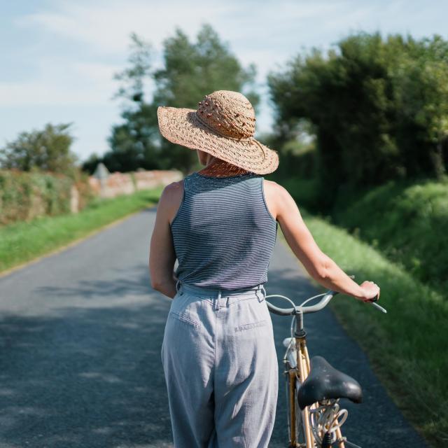
[[[126,64],[132,31],[152,43],[158,66],[176,26],[194,39],[211,24],[243,64],[258,67],[257,132],[266,132],[265,76],[297,52],[360,30],[448,38],[447,16],[448,2],[433,0],[0,0],[0,147],[18,132],[70,122],[80,160],[104,153],[120,123],[113,73]]]

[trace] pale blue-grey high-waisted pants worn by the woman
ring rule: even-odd
[[[267,447],[279,365],[264,286],[176,290],[161,350],[174,447]]]

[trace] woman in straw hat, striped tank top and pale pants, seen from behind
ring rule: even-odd
[[[277,223],[326,288],[363,301],[379,288],[344,274],[289,193],[265,181],[279,158],[253,139],[244,95],[219,90],[197,111],[159,107],[158,120],[165,138],[195,149],[205,166],[163,190],[151,238],[151,285],[174,297],[161,352],[174,446],[267,447],[279,370],[264,283]]]

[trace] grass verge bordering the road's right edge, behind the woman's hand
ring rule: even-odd
[[[375,281],[388,314],[338,295],[331,307],[395,404],[434,447],[448,443],[448,304],[377,250],[301,211],[318,246],[357,283]],[[324,290],[322,288],[322,290]]]

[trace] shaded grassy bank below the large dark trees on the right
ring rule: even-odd
[[[340,200],[331,216],[423,283],[447,290],[448,182],[389,181]]]

